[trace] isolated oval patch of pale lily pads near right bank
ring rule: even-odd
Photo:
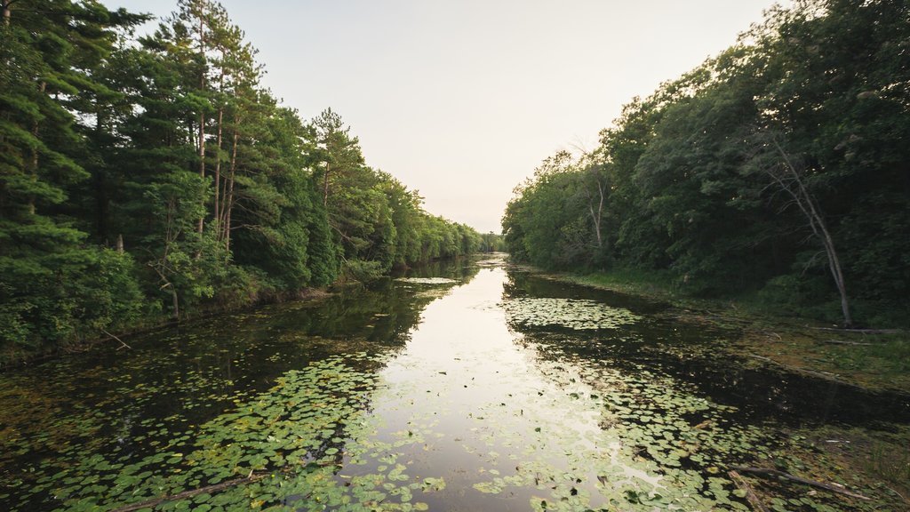
[[[515,297],[501,302],[510,323],[521,327],[560,326],[575,331],[617,329],[642,317],[602,302],[551,297]]]

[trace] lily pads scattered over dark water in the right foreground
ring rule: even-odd
[[[525,336],[522,343],[538,348],[533,336]],[[614,445],[617,455],[632,461],[632,466],[650,467],[653,475],[660,476],[656,485],[621,486],[619,497],[609,488],[602,489],[612,507],[622,504],[622,509],[635,510],[638,504],[644,509],[747,510],[743,490],[727,473],[731,466],[771,466],[800,473],[808,469],[808,459],[824,459],[805,435],[795,435],[781,425],[743,423],[736,407],[714,403],[693,386],[645,365],[620,371],[607,362],[559,353],[551,345],[544,348],[541,374],[558,383],[572,399],[601,411],[602,435],[619,440]],[[611,471],[621,471],[594,467],[599,467],[602,483]],[[820,469],[836,474],[834,466],[815,470]],[[760,487],[762,482],[753,485]],[[873,488],[859,490],[875,494]],[[880,505],[800,486],[775,488],[771,496],[767,507],[775,512],[875,510]],[[710,507],[705,508],[706,504]]]

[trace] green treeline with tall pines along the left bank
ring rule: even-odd
[[[225,9],[0,0],[0,351],[476,251],[338,114],[261,85]]]

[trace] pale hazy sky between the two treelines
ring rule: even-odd
[[[176,0],[103,0],[165,16]],[[325,108],[424,209],[500,232],[512,189],[622,105],[736,42],[773,0],[221,0],[263,84]]]

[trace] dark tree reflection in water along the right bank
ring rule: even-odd
[[[595,299],[599,292],[511,271],[503,298]],[[904,395],[870,393],[817,376],[744,364],[724,350],[739,336],[738,331],[685,318],[684,312],[666,306],[650,304],[649,308],[646,300],[627,301],[625,297],[602,295],[604,302],[628,307],[644,317],[620,329],[585,333],[527,323],[510,326],[549,358],[571,355],[607,364],[624,374],[647,370],[693,385],[714,402],[737,407],[738,421],[868,425],[874,420],[910,419],[910,399]]]

